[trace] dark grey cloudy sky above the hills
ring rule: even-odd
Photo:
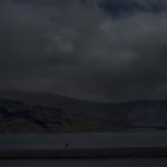
[[[167,1],[119,1],[0,0],[0,90],[167,98]]]

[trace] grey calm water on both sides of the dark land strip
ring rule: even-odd
[[[84,148],[167,146],[167,132],[0,135],[0,149],[62,148],[66,141]],[[167,158],[0,160],[0,167],[167,167]]]

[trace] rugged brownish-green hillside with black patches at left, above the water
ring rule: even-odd
[[[69,114],[60,108],[26,105],[0,99],[0,132],[104,131],[108,122],[100,118]]]

